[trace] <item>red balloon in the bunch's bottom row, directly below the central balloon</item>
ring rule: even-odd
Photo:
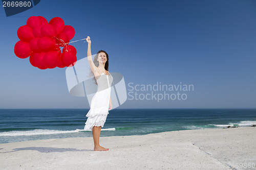
[[[45,54],[44,56],[44,64],[48,68],[55,68],[58,64],[58,56],[59,53],[56,51],[51,51]]]

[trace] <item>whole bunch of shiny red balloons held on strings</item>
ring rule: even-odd
[[[20,41],[14,46],[19,58],[28,58],[39,69],[73,66],[76,61],[76,48],[68,45],[75,36],[72,26],[65,26],[62,18],[54,17],[49,23],[42,16],[31,16],[27,25],[17,30]],[[63,47],[62,53],[60,47]]]

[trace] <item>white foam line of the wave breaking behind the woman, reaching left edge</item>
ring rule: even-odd
[[[102,131],[106,130],[115,130],[115,128],[101,129]],[[48,129],[35,129],[32,131],[10,131],[10,132],[1,132],[0,136],[30,136],[30,135],[51,135],[51,134],[60,134],[60,133],[77,133],[84,131],[83,129],[76,129],[72,131],[59,131],[59,130],[48,130]],[[84,131],[85,132],[85,131]]]

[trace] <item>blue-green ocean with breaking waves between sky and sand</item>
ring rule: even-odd
[[[84,131],[89,109],[0,109],[0,143],[92,137]],[[256,125],[256,109],[114,109],[100,136]]]

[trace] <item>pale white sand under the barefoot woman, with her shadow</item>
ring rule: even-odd
[[[248,167],[256,164],[254,127],[100,137],[100,144],[110,151],[93,151],[92,137],[4,143],[0,169],[256,169]]]

